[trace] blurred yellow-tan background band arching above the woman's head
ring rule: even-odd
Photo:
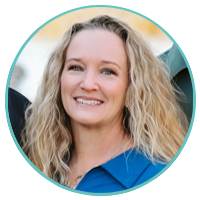
[[[63,15],[44,26],[36,35],[37,38],[59,38],[75,22],[91,19],[97,15],[111,15],[127,22],[142,35],[166,37],[165,33],[156,25],[139,15],[116,8],[87,8]]]

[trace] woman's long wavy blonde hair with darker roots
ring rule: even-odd
[[[111,31],[125,44],[129,88],[123,124],[135,148],[153,162],[168,163],[181,147],[189,126],[166,66],[135,30],[107,15],[76,23],[48,60],[36,99],[26,110],[22,132],[22,149],[28,158],[41,172],[63,185],[68,184],[73,137],[61,100],[60,80],[71,39],[88,29]]]

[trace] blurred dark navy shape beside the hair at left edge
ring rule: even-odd
[[[25,110],[30,101],[19,92],[8,89],[8,112],[15,137],[20,144],[21,132],[25,125]]]

